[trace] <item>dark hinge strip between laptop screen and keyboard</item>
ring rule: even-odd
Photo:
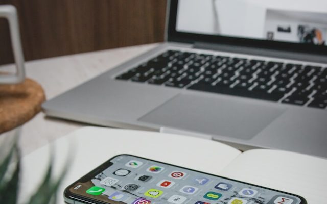
[[[273,49],[265,49],[265,48],[245,47],[245,46],[216,44],[216,43],[211,44],[211,43],[203,43],[203,42],[195,42],[194,48],[211,49],[211,50],[217,50],[217,51],[228,52],[228,53],[259,55],[265,57],[275,57],[275,58],[283,58],[283,59],[317,62],[317,63],[327,63],[327,57],[323,55],[296,53],[287,50],[273,50]]]

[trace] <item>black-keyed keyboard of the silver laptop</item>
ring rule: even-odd
[[[324,109],[327,67],[168,50],[116,79]]]

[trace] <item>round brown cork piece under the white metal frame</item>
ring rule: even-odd
[[[33,118],[45,100],[42,87],[31,79],[15,85],[0,85],[0,133]]]

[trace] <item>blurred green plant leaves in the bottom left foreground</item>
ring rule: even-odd
[[[21,170],[20,164],[20,150],[17,145],[19,130],[16,131],[14,137],[6,138],[6,142],[0,144],[1,163],[0,163],[0,203],[16,204],[18,200],[19,189],[19,172]],[[70,155],[70,154],[69,154]],[[65,167],[56,180],[53,180],[53,161],[54,157],[51,154],[50,162],[41,185],[37,191],[30,198],[29,204],[54,204],[56,203],[56,196],[58,188],[65,176],[69,163],[72,157],[68,157]]]

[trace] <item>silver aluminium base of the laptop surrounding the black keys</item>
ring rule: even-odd
[[[327,67],[166,42],[47,101],[45,113],[111,127],[152,131],[165,127],[208,136],[242,150],[283,149],[327,158],[327,110],[114,79],[169,49]]]

